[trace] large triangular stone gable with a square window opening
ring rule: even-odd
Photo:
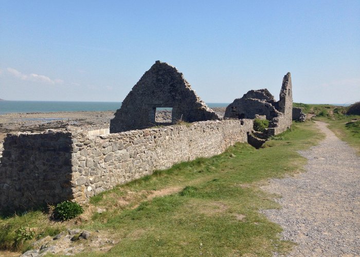
[[[170,123],[155,121],[158,107],[172,108]],[[191,89],[181,72],[167,63],[156,61],[116,111],[115,118],[110,123],[110,132],[169,125],[179,120],[194,122],[219,119]]]

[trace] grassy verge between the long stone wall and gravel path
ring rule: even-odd
[[[97,195],[75,221],[51,223],[41,212],[2,218],[0,245],[13,247],[13,233],[21,226],[43,231],[42,235],[65,226],[112,234],[118,243],[92,256],[272,256],[274,251],[286,252],[293,244],[281,241],[280,226],[258,212],[279,208],[273,201],[276,196],[259,186],[268,178],[301,170],[305,159],[296,151],[321,137],[312,122],[295,123],[263,149],[238,143],[219,156],[179,163]]]

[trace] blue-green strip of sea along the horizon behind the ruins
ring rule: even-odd
[[[207,103],[210,108],[229,103]],[[121,102],[0,101],[0,115],[8,113],[52,113],[79,111],[116,111]]]

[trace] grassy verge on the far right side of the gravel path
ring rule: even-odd
[[[315,120],[329,123],[329,128],[343,141],[348,142],[360,155],[360,116],[346,115],[348,107],[329,104],[294,103],[304,113],[316,115]]]

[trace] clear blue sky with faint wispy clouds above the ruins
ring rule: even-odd
[[[0,0],[0,98],[122,101],[156,60],[205,102],[360,100],[360,1]]]

